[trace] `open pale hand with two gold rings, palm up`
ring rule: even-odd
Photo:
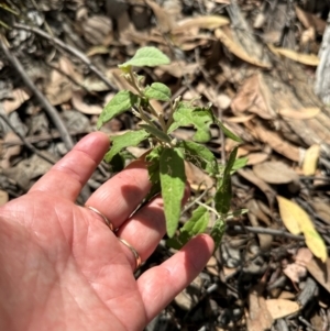
[[[109,148],[92,133],[25,196],[0,208],[0,330],[142,330],[202,269],[213,250],[193,239],[162,265],[133,276],[165,233],[162,199],[131,219],[150,189],[142,161],[103,184],[87,201],[111,220],[112,233],[75,200]]]

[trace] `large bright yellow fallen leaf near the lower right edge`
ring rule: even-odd
[[[328,258],[327,246],[316,231],[308,213],[297,203],[277,196],[279,214],[286,229],[293,234],[304,233],[305,241],[312,254],[322,262]]]

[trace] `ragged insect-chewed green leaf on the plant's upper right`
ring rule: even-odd
[[[185,102],[180,102],[173,114],[174,123],[169,126],[167,133],[173,132],[179,126],[193,124],[197,132],[193,139],[199,143],[207,143],[211,139],[209,125],[212,121],[209,111],[200,108],[191,108]]]

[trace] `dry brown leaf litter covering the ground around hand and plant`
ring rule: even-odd
[[[157,99],[153,100],[157,111],[166,115],[169,99],[183,95],[183,100],[188,100],[193,96],[201,109],[212,103],[212,114],[243,141],[238,154],[249,163],[235,173],[228,170],[234,173],[230,180],[233,199],[223,208],[232,216],[226,221],[227,233],[212,265],[146,330],[160,330],[161,322],[164,330],[279,331],[283,326],[304,329],[306,323],[318,330],[319,320],[330,326],[330,109],[327,77],[321,75],[327,73],[322,53],[327,55],[329,47],[329,4],[148,0],[119,5],[110,0],[43,0],[37,14],[30,15],[31,23],[24,25],[26,20],[15,12],[24,9],[22,12],[29,13],[34,4],[21,2],[11,11],[0,9],[12,18],[0,15],[2,33],[26,75],[67,123],[74,142],[97,130],[98,115],[116,92],[130,90],[118,65],[143,46],[156,47],[168,56],[157,67],[152,67],[153,58],[141,63],[139,53],[133,62],[125,63],[150,65],[141,70],[147,76],[150,97]],[[56,13],[52,19],[50,10]],[[16,26],[6,29],[11,24]],[[53,37],[61,38],[66,47],[50,42]],[[55,161],[66,150],[53,119],[35,120],[44,113],[35,90],[25,86],[2,54],[0,63],[0,190],[4,203],[26,192],[50,168],[51,163],[41,162],[36,153]],[[114,107],[122,111],[130,107],[117,101]],[[72,119],[76,112],[79,117]],[[207,117],[200,118],[204,120]],[[187,143],[209,139],[185,111],[182,121],[185,129],[174,131],[175,139]],[[134,136],[133,158],[147,147],[140,143],[145,133],[133,117],[121,113],[102,128],[116,137],[117,148],[132,139],[124,135],[132,129],[141,130]],[[224,169],[233,145],[226,134],[210,129],[211,141],[205,146]],[[164,163],[165,186],[168,166]],[[217,189],[221,195],[221,189],[191,163],[179,169],[184,166],[191,198],[183,210],[174,203],[173,212],[182,213],[187,231],[189,227],[202,229],[208,213],[200,207],[200,214],[193,216],[189,203],[202,203]],[[89,181],[89,194],[111,175],[109,165],[102,164]],[[228,177],[224,181],[229,185]],[[170,198],[168,194],[166,199]],[[79,199],[84,201],[84,195]],[[250,209],[248,214],[235,213],[245,208]],[[196,223],[189,225],[191,217]],[[208,218],[209,222],[217,221]],[[142,271],[161,263],[170,252],[161,243]],[[310,278],[318,291],[307,298],[312,304],[307,309],[298,299]],[[188,304],[180,302],[182,297]]]

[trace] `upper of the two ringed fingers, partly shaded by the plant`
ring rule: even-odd
[[[150,189],[146,164],[139,159],[101,185],[86,205],[99,210],[117,229],[138,208]]]

